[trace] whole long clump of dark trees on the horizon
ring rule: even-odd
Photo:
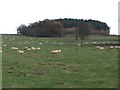
[[[21,24],[17,27],[17,33],[32,37],[61,37],[67,33],[65,33],[67,28],[75,28],[72,31],[72,34],[81,36],[87,36],[88,33],[92,30],[103,30],[108,31],[110,27],[105,22],[100,22],[98,20],[83,20],[83,19],[45,19],[43,21],[38,21],[34,23],[30,23],[28,26],[25,24]],[[69,32],[69,29],[68,29]]]

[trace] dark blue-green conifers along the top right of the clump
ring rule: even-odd
[[[83,20],[83,19],[64,18],[64,19],[55,19],[55,20],[60,21],[65,28],[78,27],[81,21],[91,24],[96,30],[109,30],[110,28],[106,23],[92,19]]]

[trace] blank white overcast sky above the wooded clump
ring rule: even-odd
[[[111,27],[110,34],[118,34],[118,1],[0,0],[0,34],[16,34],[21,24],[59,18],[99,20]]]

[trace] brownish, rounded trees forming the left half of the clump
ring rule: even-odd
[[[20,25],[17,28],[19,34],[35,37],[57,37],[63,34],[63,25],[59,21],[45,20],[43,22],[35,22],[28,27]]]

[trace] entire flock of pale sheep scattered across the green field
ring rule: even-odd
[[[7,39],[6,37],[5,37],[5,39]],[[15,38],[11,38],[11,39],[9,39],[9,42],[12,42],[12,41],[14,41],[15,40]],[[32,38],[31,38],[31,42],[34,42],[33,40],[32,40]],[[45,43],[48,43],[48,41],[46,40],[45,41]],[[56,44],[57,42],[53,42],[53,44]],[[105,44],[105,43],[110,43],[110,42],[103,42],[103,44]],[[3,47],[6,47],[6,44],[4,44],[4,42],[2,42],[2,46]],[[22,43],[19,43],[20,45],[21,44],[30,44],[30,42],[29,41],[25,41],[25,42],[22,42]],[[41,43],[41,42],[39,42],[39,45],[42,45],[43,43]],[[59,45],[62,45],[62,44],[64,44],[64,43],[58,43]],[[84,42],[84,44],[89,44],[89,42]],[[100,49],[100,50],[104,50],[105,48],[104,47],[102,47],[102,46],[97,46],[97,42],[92,42],[92,44],[93,45],[96,45],[96,49]],[[78,46],[81,46],[81,43],[79,43],[79,44],[77,44]],[[113,48],[116,48],[116,49],[119,49],[120,48],[120,46],[109,46],[109,48],[110,49],[113,49]],[[15,51],[17,51],[17,53],[20,53],[20,54],[24,54],[25,53],[25,50],[26,51],[34,51],[34,52],[37,52],[38,50],[40,50],[41,48],[40,47],[24,47],[22,50],[21,49],[19,49],[18,47],[11,47],[11,49],[12,50],[15,50]],[[61,49],[55,49],[55,50],[51,50],[50,51],[52,54],[57,54],[57,53],[61,53],[62,52],[62,50]],[[2,47],[0,47],[0,53],[2,53]]]

